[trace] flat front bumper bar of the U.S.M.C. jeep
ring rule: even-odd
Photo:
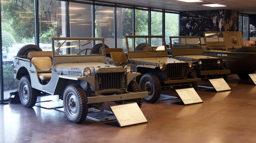
[[[148,97],[148,92],[124,92],[124,94],[117,95],[96,95],[95,97],[87,97],[88,104],[109,102],[109,101],[119,101],[119,100],[129,100]]]

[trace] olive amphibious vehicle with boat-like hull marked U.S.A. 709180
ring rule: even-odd
[[[244,46],[241,32],[204,32],[204,55],[225,60],[231,74],[248,74],[256,70],[256,46]]]

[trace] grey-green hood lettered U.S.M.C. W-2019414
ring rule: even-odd
[[[63,75],[80,75],[84,68],[89,67],[91,73],[93,69],[97,73],[110,73],[110,72],[126,72],[124,67],[116,67],[114,65],[107,65],[105,63],[61,63],[53,67],[55,72]]]

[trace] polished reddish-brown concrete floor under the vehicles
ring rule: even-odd
[[[106,124],[115,120],[86,118],[73,124],[56,110],[0,105],[0,142],[256,142],[256,86],[251,80],[227,83],[232,90],[199,90],[199,104],[185,106],[180,99],[143,102],[148,123],[124,128]],[[177,96],[169,90],[162,94]]]

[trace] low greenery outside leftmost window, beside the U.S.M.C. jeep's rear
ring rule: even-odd
[[[19,86],[19,80],[14,79],[13,67],[5,65],[3,67],[3,90],[17,89]]]

